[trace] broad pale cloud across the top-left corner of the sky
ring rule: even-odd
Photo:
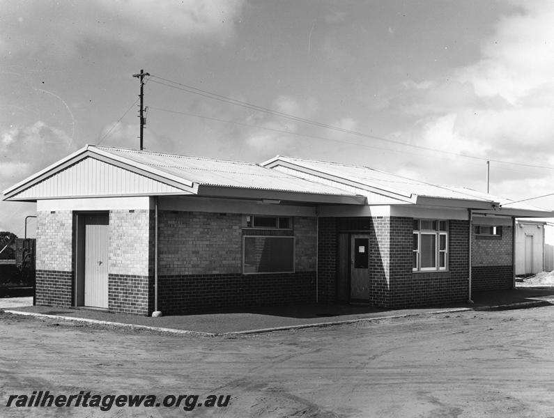
[[[234,35],[243,0],[6,1],[0,8],[3,52],[63,58],[91,44],[118,45],[139,55],[191,39],[225,44]]]

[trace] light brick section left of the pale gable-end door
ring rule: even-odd
[[[36,270],[72,271],[73,214],[37,212]]]

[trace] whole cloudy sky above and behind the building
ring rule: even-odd
[[[549,0],[0,0],[0,189],[84,144],[138,148],[144,68],[148,150],[482,191],[488,159],[491,193],[553,193],[552,22]],[[0,231],[35,210],[0,202]]]

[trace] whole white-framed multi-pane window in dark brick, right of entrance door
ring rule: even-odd
[[[448,221],[414,219],[412,270],[447,270]]]

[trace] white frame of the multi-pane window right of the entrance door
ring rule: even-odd
[[[434,229],[422,229],[422,222],[432,222]],[[444,228],[443,228],[444,226]],[[417,235],[417,240],[414,239]],[[433,235],[435,242],[434,267],[422,267],[422,235]],[[445,237],[445,249],[440,249],[440,238]],[[414,248],[417,245],[417,248]],[[412,235],[412,254],[415,253],[415,266],[413,265],[412,255],[412,272],[445,272],[449,268],[449,222],[445,219],[413,219],[413,235]],[[440,266],[440,256],[445,254],[445,265]]]

